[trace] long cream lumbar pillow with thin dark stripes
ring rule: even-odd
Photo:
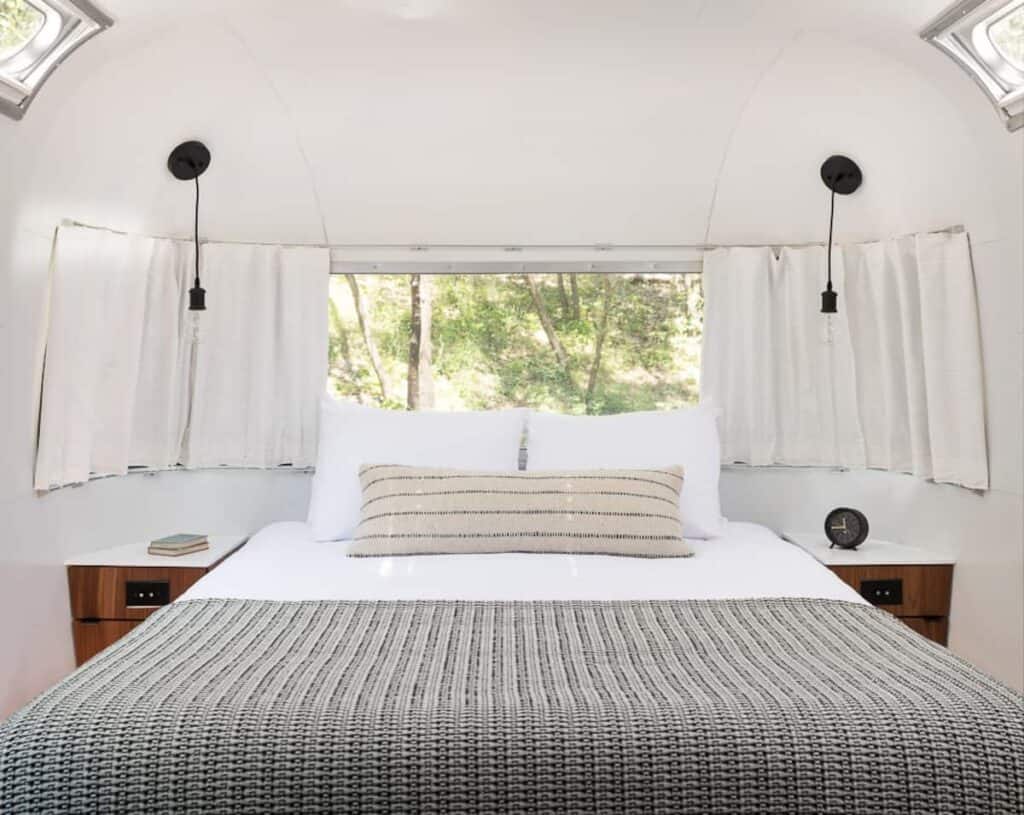
[[[349,554],[693,554],[682,538],[682,467],[473,472],[368,464]]]

